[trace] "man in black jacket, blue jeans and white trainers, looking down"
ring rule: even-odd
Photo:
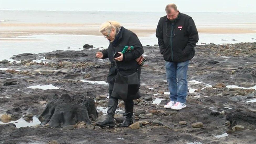
[[[186,107],[187,70],[199,38],[190,16],[180,13],[175,4],[168,4],[165,10],[167,15],[160,18],[156,29],[170,90],[170,102],[164,108],[179,110]]]

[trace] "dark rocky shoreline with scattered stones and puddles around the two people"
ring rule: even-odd
[[[159,47],[144,46],[147,61],[141,73],[142,97],[135,100],[135,124],[113,129],[94,126],[105,118],[110,65],[108,59],[95,58],[97,51],[25,53],[13,56],[14,62],[1,61],[0,143],[256,141],[256,42],[196,46],[188,71],[188,107],[179,111],[163,108],[169,91]],[[89,116],[92,124],[83,121],[51,128],[34,123],[48,103],[65,94],[77,98],[76,102],[94,99],[97,115]],[[27,127],[18,127],[19,120],[26,120]],[[121,100],[115,120],[124,120]]]

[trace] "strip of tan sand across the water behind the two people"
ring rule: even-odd
[[[155,33],[154,26],[136,26],[123,24],[138,36],[149,36]],[[98,29],[100,23],[0,23],[0,41],[27,41],[26,39],[11,39],[17,36],[39,34],[75,34],[101,36]],[[199,33],[206,34],[245,34],[256,33],[256,23],[241,23],[237,25],[207,26],[197,25]],[[5,39],[8,38],[8,39]],[[33,41],[33,40],[30,40]]]

